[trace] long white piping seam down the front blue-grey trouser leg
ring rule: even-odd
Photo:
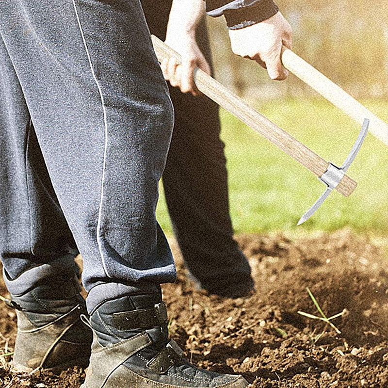
[[[85,39],[84,32],[82,30],[81,20],[80,20],[80,16],[79,16],[79,13],[78,13],[78,10],[77,10],[77,6],[76,6],[76,3],[75,3],[75,0],[72,0],[72,2],[73,2],[73,6],[74,6],[75,16],[77,18],[78,27],[79,27],[79,30],[80,30],[80,33],[81,33],[81,38],[82,38],[83,46],[85,48],[85,52],[86,52],[86,55],[87,55],[87,58],[88,58],[88,61],[89,61],[90,70],[91,70],[93,79],[94,79],[94,81],[96,83],[96,86],[97,86],[97,89],[98,89],[98,93],[100,95],[101,105],[102,105],[102,112],[103,112],[103,119],[104,119],[105,146],[104,146],[104,159],[103,159],[103,164],[102,164],[101,198],[100,198],[100,204],[99,204],[99,208],[98,208],[96,239],[97,239],[98,251],[99,251],[99,254],[100,254],[100,257],[101,257],[102,267],[104,269],[105,274],[108,277],[110,277],[109,274],[108,274],[108,270],[106,268],[105,262],[104,262],[104,257],[103,257],[103,254],[102,254],[101,239],[100,239],[100,236],[99,236],[99,232],[100,232],[100,228],[101,228],[101,214],[102,214],[102,202],[103,202],[103,197],[104,197],[104,180],[105,180],[106,156],[107,156],[107,148],[108,148],[108,123],[107,123],[106,109],[105,109],[104,97],[102,95],[101,86],[100,86],[100,84],[99,84],[99,82],[97,80],[97,76],[96,76],[96,73],[94,71],[92,59],[91,59],[91,56],[90,56],[90,53],[89,53],[89,50],[88,50],[88,47],[87,47],[87,44],[86,44],[86,39]]]

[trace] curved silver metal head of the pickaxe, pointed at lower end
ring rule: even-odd
[[[346,170],[349,168],[349,166],[356,158],[356,155],[360,150],[362,143],[364,142],[365,136],[367,135],[368,126],[369,126],[369,120],[366,118],[364,119],[364,123],[362,124],[360,133],[358,134],[356,143],[354,144],[352,150],[350,151],[349,155],[347,156],[347,158],[345,159],[345,162],[343,162],[341,167],[337,167],[335,164],[331,162],[329,163],[327,170],[323,173],[322,177],[319,178],[320,180],[323,181],[323,183],[326,184],[327,186],[326,190],[317,199],[314,205],[312,205],[311,208],[308,209],[305,214],[303,214],[303,216],[298,221],[297,225],[301,225],[305,221],[307,221],[315,213],[315,211],[317,211],[319,207],[323,204],[324,200],[328,197],[331,191],[337,187],[337,185],[345,175]]]

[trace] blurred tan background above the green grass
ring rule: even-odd
[[[387,0],[277,0],[293,30],[293,51],[356,98],[388,95]],[[250,99],[314,94],[295,76],[271,82],[231,53],[223,17],[208,17],[216,78]],[[252,82],[254,80],[254,82]]]

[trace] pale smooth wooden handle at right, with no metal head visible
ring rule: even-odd
[[[300,80],[311,86],[321,96],[329,100],[342,112],[346,113],[359,125],[365,118],[369,119],[369,132],[388,146],[388,124],[373,114],[355,98],[347,94],[333,81],[330,81],[315,67],[283,46],[282,63]]]

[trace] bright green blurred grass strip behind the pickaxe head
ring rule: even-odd
[[[388,121],[388,103],[361,101]],[[360,126],[329,102],[278,99],[256,104],[259,112],[291,133],[327,161],[341,165],[356,141]],[[325,185],[287,154],[231,114],[222,111],[226,144],[230,212],[236,233],[333,231],[350,227],[359,233],[386,235],[388,229],[388,147],[368,134],[348,175],[358,182],[348,198],[332,192],[303,225],[302,214]],[[171,234],[161,191],[157,216]]]

